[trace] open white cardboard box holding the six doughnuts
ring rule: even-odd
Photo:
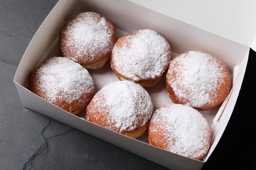
[[[169,169],[201,169],[215,146],[236,104],[245,74],[249,48],[255,46],[256,1],[139,1],[139,0],[60,0],[28,45],[14,76],[14,83],[24,107],[75,127],[85,133],[129,150]],[[231,7],[230,7],[231,6]],[[219,11],[217,11],[219,9]],[[238,9],[239,12],[238,12]],[[106,16],[115,25],[118,35],[150,28],[163,35],[175,54],[199,50],[213,54],[228,65],[232,75],[232,90],[221,107],[202,112],[211,125],[213,142],[203,161],[193,160],[156,148],[147,143],[146,134],[131,139],[114,131],[96,126],[84,119],[85,114],[74,116],[41,99],[27,88],[33,68],[46,58],[60,56],[58,35],[62,25],[79,12],[95,11]],[[238,12],[238,14],[236,13]],[[247,19],[247,20],[246,20]],[[255,49],[254,49],[255,50]],[[107,63],[102,69],[89,71],[96,90],[117,81]],[[102,81],[104,79],[104,81]],[[155,109],[171,104],[165,90],[165,78],[154,88],[147,88]]]

